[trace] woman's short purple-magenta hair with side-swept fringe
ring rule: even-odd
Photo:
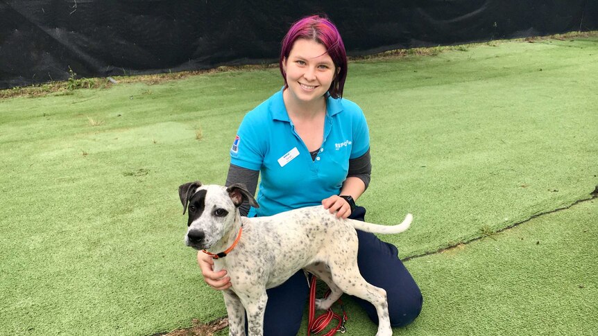
[[[332,98],[341,98],[343,96],[343,88],[345,87],[345,79],[347,78],[347,53],[345,51],[345,44],[341,39],[341,34],[336,26],[332,24],[327,17],[313,15],[311,17],[304,17],[295,22],[287,32],[287,35],[282,39],[282,50],[280,51],[280,73],[284,78],[284,87],[288,87],[287,73],[282,69],[282,62],[285,58],[289,58],[293,44],[298,39],[310,39],[325,46],[328,55],[334,62],[334,70],[339,71],[330,88],[328,94]]]

